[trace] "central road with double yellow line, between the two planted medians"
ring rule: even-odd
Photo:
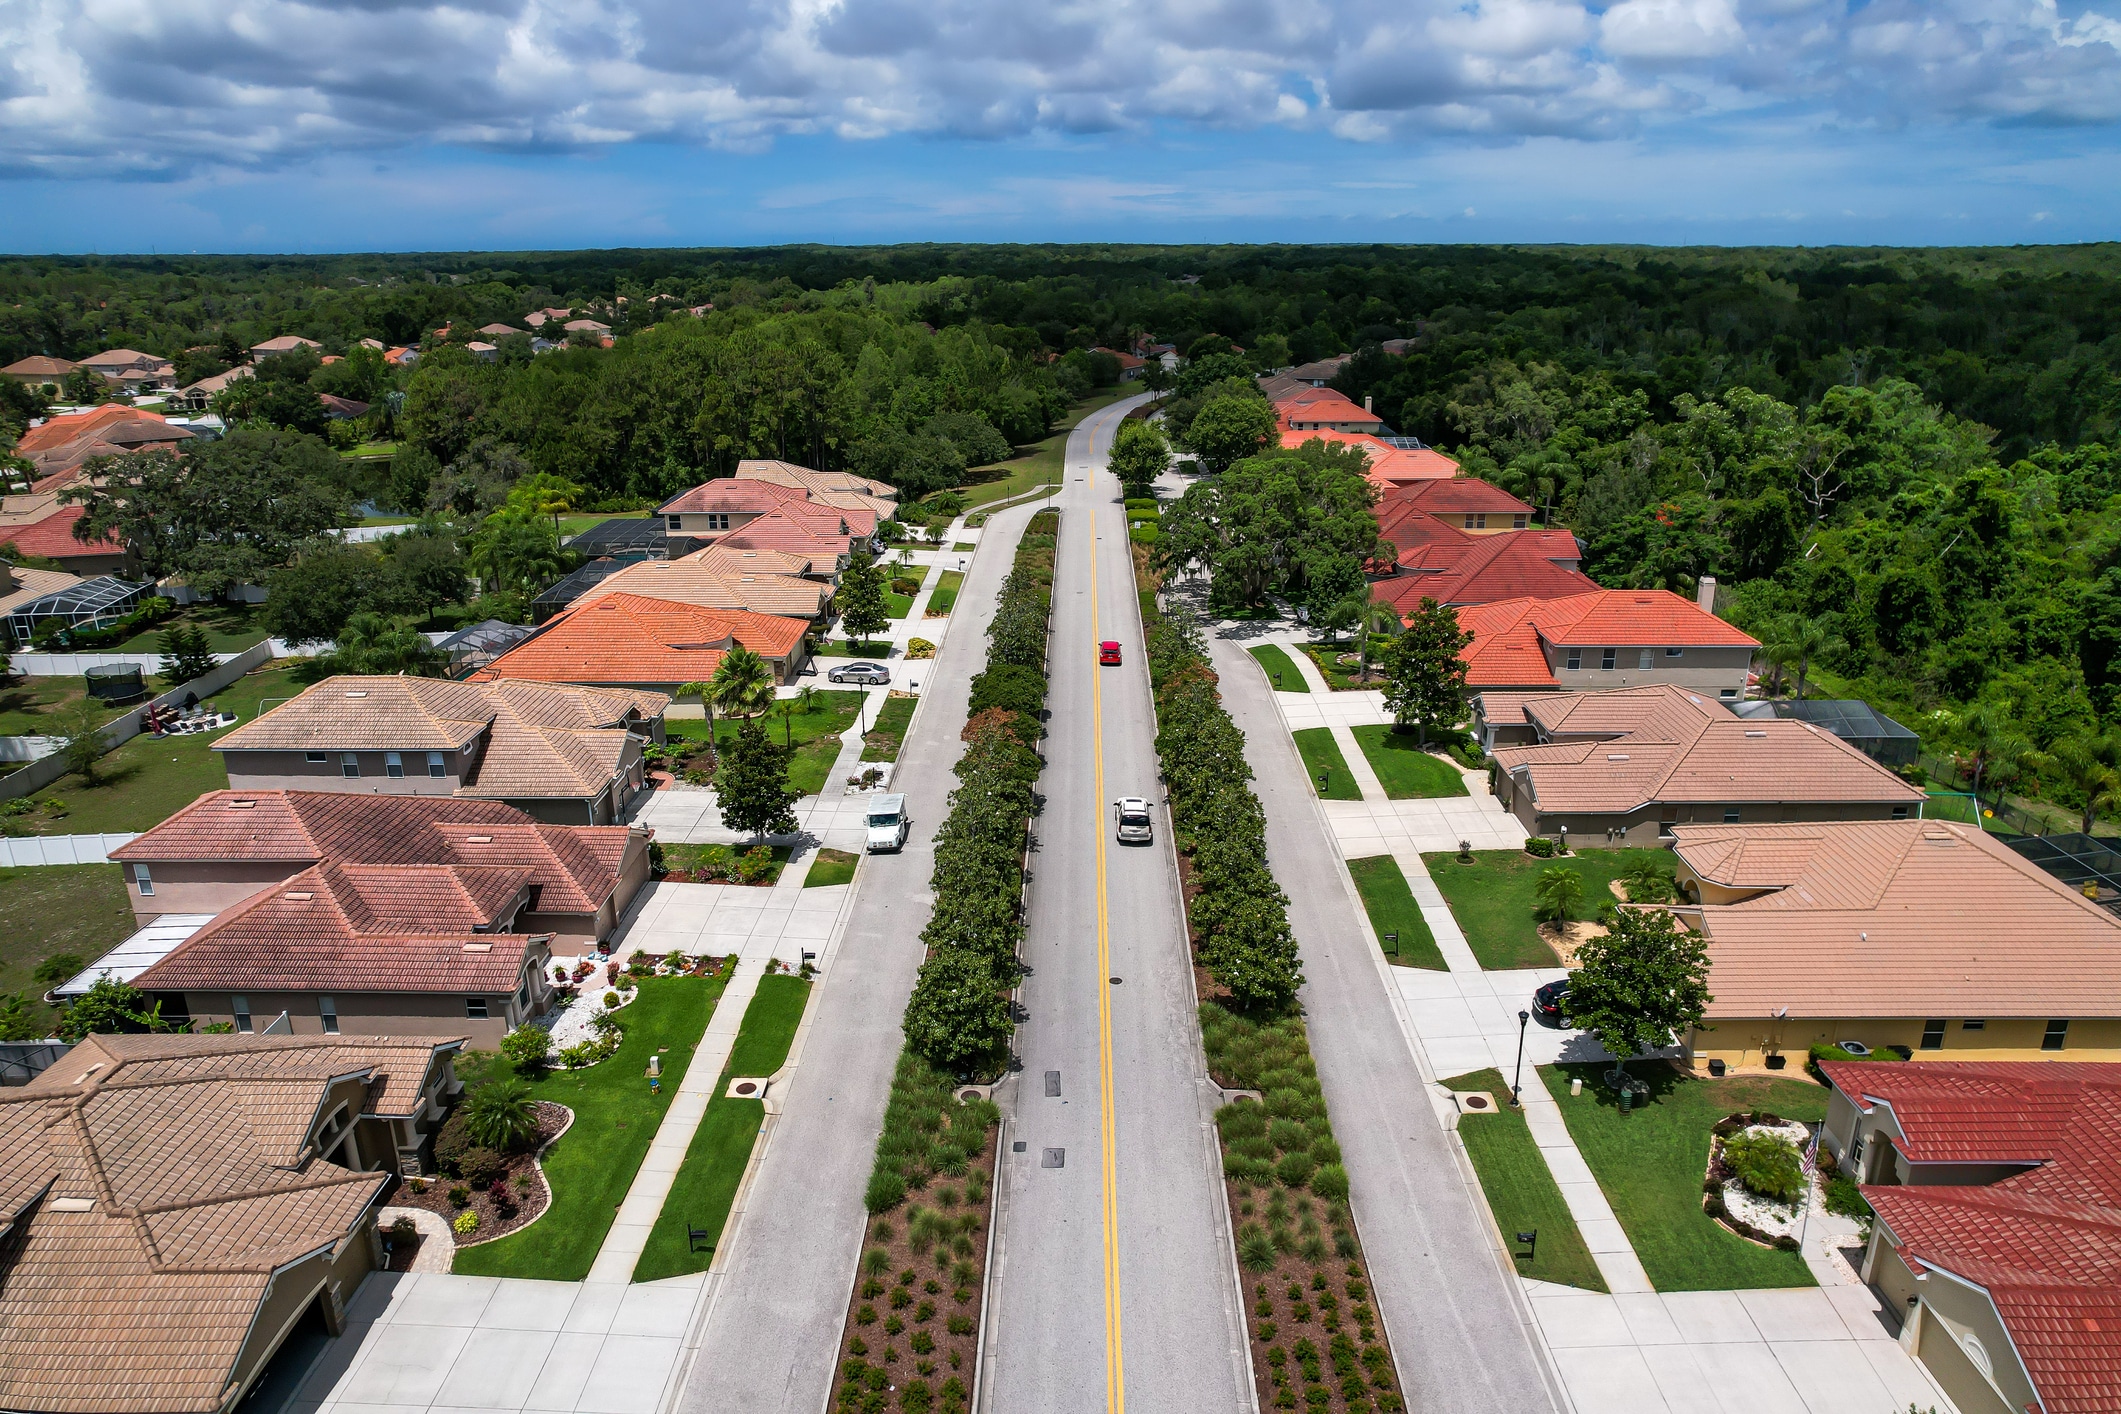
[[[980,1391],[993,1414],[1254,1408],[1169,816],[1154,848],[1114,837],[1114,799],[1162,797],[1126,515],[1105,473],[1137,401],[1069,437],[1056,496],[1022,1068],[997,1094],[1024,1151],[1003,1153]],[[1120,640],[1122,666],[1099,668],[1101,638]]]

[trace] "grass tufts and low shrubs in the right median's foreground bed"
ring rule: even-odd
[[[1215,1111],[1260,1408],[1404,1410],[1302,1020],[1203,1003],[1200,1045],[1262,1094]]]

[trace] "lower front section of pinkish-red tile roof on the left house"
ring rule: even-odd
[[[530,935],[477,933],[528,869],[316,865],[225,907],[144,992],[513,992]]]

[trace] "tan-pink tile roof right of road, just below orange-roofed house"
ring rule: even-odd
[[[1830,731],[1780,717],[1739,719],[1684,689],[1555,693],[1550,704],[1527,702],[1523,710],[1531,721],[1563,721],[1574,733],[1493,753],[1512,778],[1529,780],[1542,814],[1627,814],[1650,803],[1917,806],[1924,799]],[[1582,714],[1597,721],[1578,721]]]

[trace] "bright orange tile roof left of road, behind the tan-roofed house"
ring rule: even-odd
[[[772,664],[776,683],[791,683],[810,659],[806,630],[806,619],[604,594],[568,608],[471,681],[585,683],[674,693],[685,683],[715,676],[721,657],[742,644]]]

